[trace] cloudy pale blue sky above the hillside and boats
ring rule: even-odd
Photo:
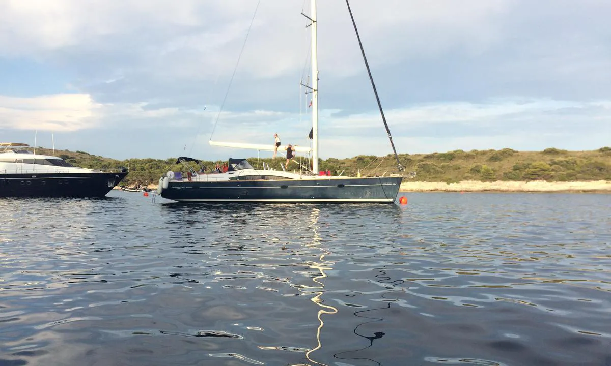
[[[611,1],[350,5],[398,153],[611,145]],[[0,142],[114,159],[254,157],[208,140],[274,133],[307,146],[301,12],[309,1],[1,1]],[[318,1],[317,24],[320,156],[391,153],[345,1]]]

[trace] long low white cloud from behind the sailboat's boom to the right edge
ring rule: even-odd
[[[377,111],[335,117],[338,112],[321,110],[322,157],[385,156],[392,152]],[[609,145],[611,135],[611,101],[496,99],[480,104],[423,104],[385,114],[399,153],[506,147],[541,150],[551,146],[594,149]],[[283,143],[308,143],[305,135],[310,128],[309,115],[279,113],[275,117],[263,123],[251,120],[256,118],[255,113],[241,113],[232,124],[221,123],[214,140],[266,143],[271,142],[273,132],[278,132]],[[204,146],[202,151],[244,156],[240,151],[208,148],[207,140],[207,135],[197,139]]]

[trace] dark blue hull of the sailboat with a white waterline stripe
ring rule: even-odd
[[[169,182],[161,196],[196,203],[393,203],[402,179]]]

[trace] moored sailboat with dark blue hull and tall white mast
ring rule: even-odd
[[[312,170],[307,173],[291,173],[269,169],[255,169],[246,159],[229,159],[229,169],[225,173],[197,173],[189,170],[186,176],[181,172],[168,171],[159,179],[157,193],[163,198],[183,203],[394,203],[397,198],[403,176],[346,177],[318,175],[318,56],[316,39],[316,0],[312,0],[310,20],[312,31],[312,148],[296,146],[297,152],[312,154]],[[348,4],[349,9],[349,4]],[[352,17],[352,12],[350,11]],[[305,15],[304,15],[305,16]],[[356,23],[354,23],[356,30]],[[357,32],[358,37],[358,32]],[[360,44],[360,38],[359,38]],[[365,65],[369,71],[365,52]],[[398,161],[397,151],[392,144],[392,137],[373,79],[371,84],[378,99],[382,120],[390,143],[395,151],[399,170],[403,170]],[[272,145],[251,143],[213,142],[210,145],[227,146],[273,151]],[[286,148],[280,146],[278,151]]]

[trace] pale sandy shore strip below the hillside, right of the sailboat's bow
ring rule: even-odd
[[[591,182],[403,182],[401,192],[595,192],[611,193],[611,181]]]

